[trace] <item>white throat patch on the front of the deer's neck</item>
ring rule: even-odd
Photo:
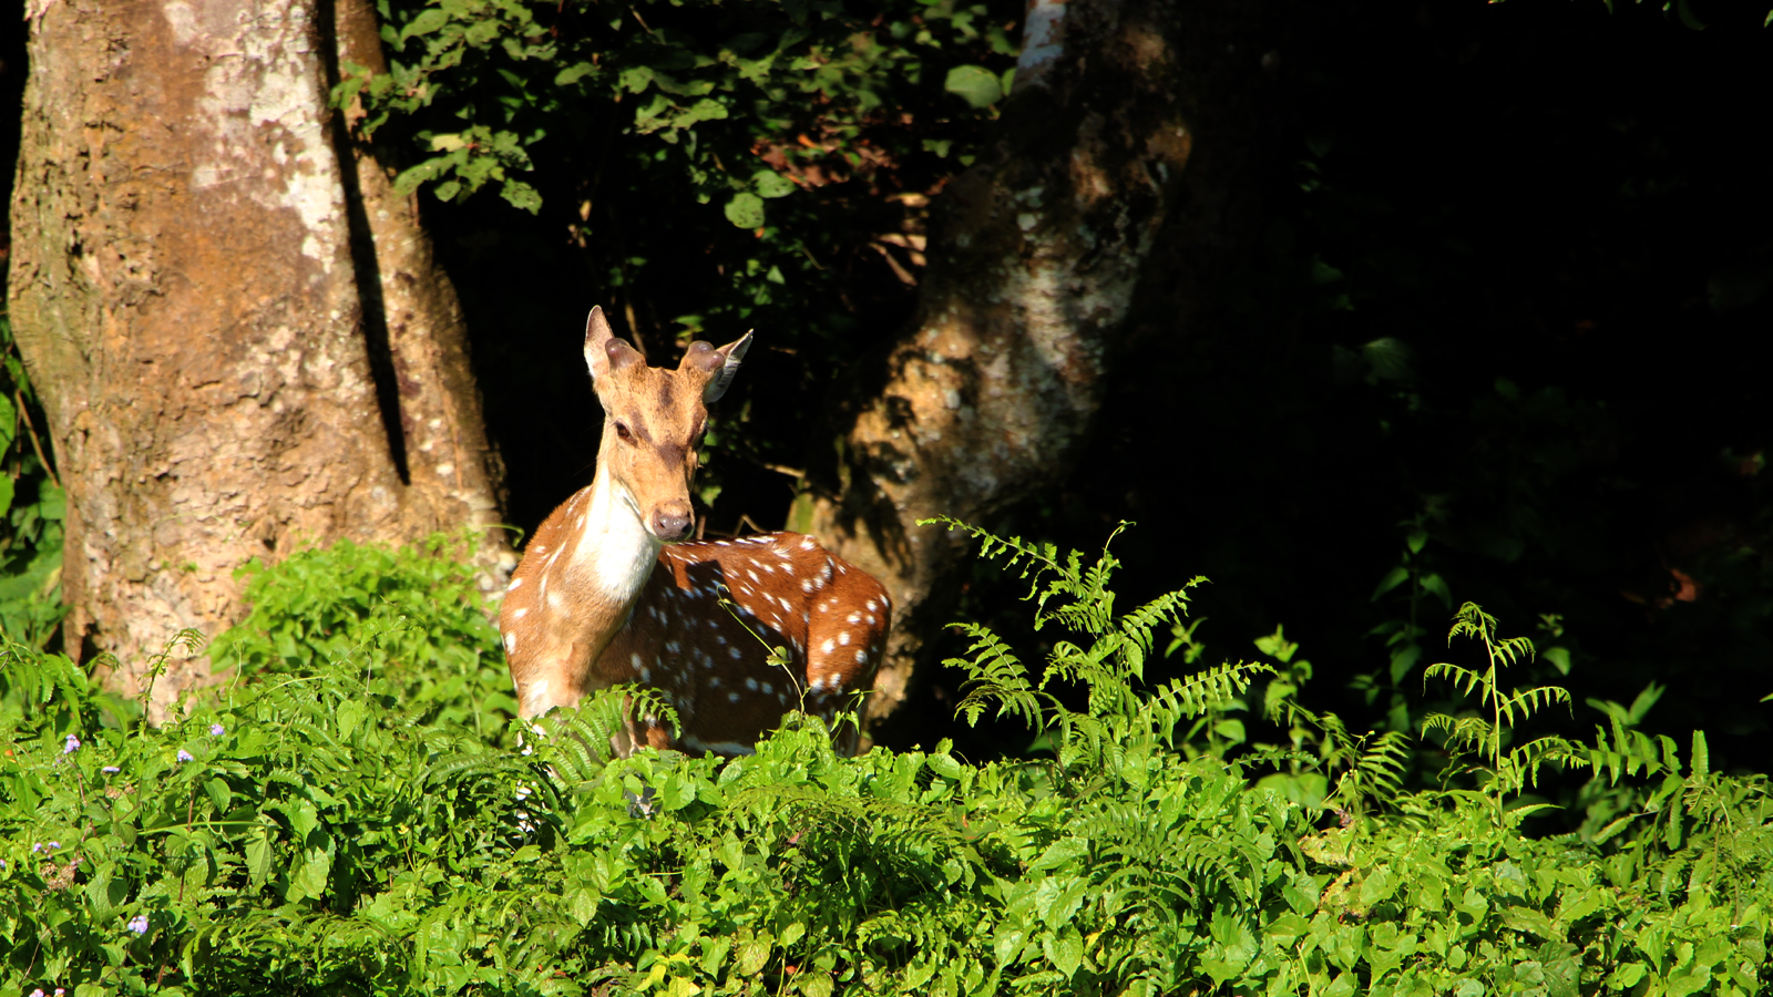
[[[598,653],[628,623],[640,589],[658,564],[663,541],[647,532],[633,497],[608,467],[598,468],[578,520],[573,575],[590,589],[592,646]]]

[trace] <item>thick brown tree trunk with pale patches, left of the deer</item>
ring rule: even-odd
[[[32,5],[11,316],[67,488],[66,644],[126,688],[176,630],[238,617],[252,557],[496,522],[454,293],[326,106],[367,5],[337,14]]]

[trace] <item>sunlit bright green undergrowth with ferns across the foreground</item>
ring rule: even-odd
[[[1261,648],[1275,663],[1149,687],[1186,589],[1121,612],[1106,550],[980,539],[1030,580],[1051,649],[1030,665],[968,624],[961,710],[1027,720],[1048,745],[1028,759],[840,758],[791,717],[741,759],[605,761],[621,695],[527,726],[516,749],[480,679],[415,703],[496,665],[438,552],[333,548],[257,575],[254,616],[218,640],[248,674],[160,729],[12,644],[0,988],[1762,990],[1766,782],[1711,772],[1700,734],[1683,752],[1621,710],[1594,743],[1532,747],[1518,727],[1558,699],[1507,688],[1530,646],[1464,607],[1454,633],[1486,665],[1429,669],[1470,711],[1408,745],[1450,763],[1445,788],[1404,791],[1399,734],[1300,706],[1278,632]],[[1264,674],[1293,743],[1223,749],[1227,704]],[[1605,825],[1521,832],[1546,765],[1592,773]]]

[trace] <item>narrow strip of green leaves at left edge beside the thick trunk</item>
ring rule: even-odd
[[[43,408],[0,314],[0,639],[43,648],[62,623],[62,516]]]

